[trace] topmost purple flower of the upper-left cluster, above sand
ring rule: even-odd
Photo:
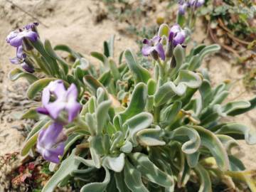
[[[18,48],[22,45],[23,38],[28,38],[30,41],[36,41],[38,38],[38,33],[24,29],[19,31],[11,31],[9,35],[6,37],[7,43],[9,43],[11,46],[14,46]]]

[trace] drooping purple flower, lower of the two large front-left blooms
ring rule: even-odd
[[[59,156],[64,154],[64,141],[66,139],[63,125],[54,122],[47,129],[41,129],[39,132],[36,149],[43,156],[43,159],[58,164],[60,162]]]

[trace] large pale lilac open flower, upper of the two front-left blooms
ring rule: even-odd
[[[55,97],[53,102],[50,102],[50,96]],[[43,89],[43,107],[39,107],[37,111],[41,114],[48,114],[53,119],[57,119],[60,112],[66,112],[68,114],[68,122],[72,122],[81,109],[77,98],[78,90],[75,84],[71,84],[68,90],[65,90],[63,81],[55,80]]]

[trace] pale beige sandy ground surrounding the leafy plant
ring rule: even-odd
[[[33,14],[44,25],[39,26],[42,38],[50,39],[54,45],[67,44],[84,55],[90,55],[91,51],[102,51],[103,41],[116,35],[115,48],[117,55],[125,48],[138,49],[134,40],[119,33],[117,21],[105,19],[95,23],[99,14],[97,1],[93,0],[13,0],[22,9]],[[31,16],[18,10],[6,0],[0,0],[0,155],[18,151],[23,144],[23,130],[26,124],[16,119],[18,114],[26,107],[31,107],[34,102],[24,100],[26,82],[11,82],[7,73],[14,68],[9,63],[9,58],[15,55],[14,48],[6,44],[5,38],[9,31],[22,27],[26,23],[35,21]],[[194,36],[196,41],[202,41],[206,33],[198,30]],[[116,56],[117,56],[116,55]],[[90,60],[91,58],[88,57]],[[95,60],[92,60],[94,62]],[[223,80],[235,80],[235,86],[229,100],[235,98],[249,99],[252,93],[245,92],[242,85],[242,74],[238,73],[237,67],[231,67],[230,63],[223,58],[214,56],[207,58],[204,67],[210,71],[210,77],[214,84]],[[247,124],[256,129],[256,111],[248,112],[235,118],[235,121]],[[256,146],[247,146],[241,142],[242,159],[248,169],[256,169]]]

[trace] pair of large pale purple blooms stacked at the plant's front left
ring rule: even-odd
[[[43,107],[38,107],[37,112],[47,114],[55,121],[47,129],[42,129],[38,136],[37,149],[44,159],[59,163],[58,156],[63,155],[63,142],[67,138],[63,132],[63,125],[72,122],[81,109],[77,99],[78,90],[75,85],[72,84],[65,90],[62,80],[50,82],[43,89]],[[66,117],[68,121],[65,120]]]

